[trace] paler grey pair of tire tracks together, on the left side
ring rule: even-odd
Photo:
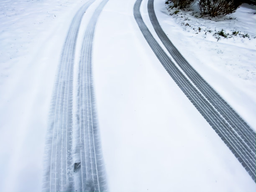
[[[94,29],[100,11],[108,0],[100,3],[87,26],[79,62],[80,69],[82,69],[82,72],[79,72],[81,74],[78,82],[80,88],[73,90],[77,35],[82,17],[94,1],[88,0],[77,11],[61,53],[46,133],[42,186],[42,191],[45,192],[77,189],[77,191],[105,191],[107,189],[100,151],[91,68]],[[90,41],[85,41],[87,39]],[[73,91],[78,92],[80,100],[79,112],[75,115],[73,102],[77,98],[73,98]],[[74,137],[77,136],[77,127],[74,127],[77,119],[80,122],[79,140]],[[79,160],[76,158],[78,153]],[[79,172],[82,174],[79,175]]]

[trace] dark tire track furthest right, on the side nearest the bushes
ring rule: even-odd
[[[148,15],[151,23],[156,31],[156,34],[164,44],[169,54],[174,58],[174,61],[195,84],[195,86],[202,92],[207,100],[215,107],[215,109],[228,122],[236,134],[246,143],[246,146],[251,149],[255,155],[255,141],[256,133],[246,124],[246,122],[228,105],[218,93],[198,74],[195,69],[187,62],[177,48],[172,44],[169,38],[162,30],[154,10],[154,0],[148,0]]]

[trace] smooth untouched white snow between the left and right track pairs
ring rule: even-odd
[[[96,103],[110,191],[255,190],[143,39],[134,2],[110,1],[95,33]]]

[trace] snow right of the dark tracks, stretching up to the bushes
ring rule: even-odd
[[[175,9],[168,12],[168,6],[163,6],[163,3],[164,0],[159,0],[154,5],[169,39],[189,64],[256,131],[255,5],[242,4],[235,13],[220,18],[200,18],[197,3],[189,10],[180,10],[174,15]],[[222,29],[229,34],[233,31],[244,35],[248,33],[250,38],[220,36],[218,40],[213,33]]]

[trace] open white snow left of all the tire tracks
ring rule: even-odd
[[[79,0],[0,2],[0,191],[41,191],[52,87],[81,6]]]

